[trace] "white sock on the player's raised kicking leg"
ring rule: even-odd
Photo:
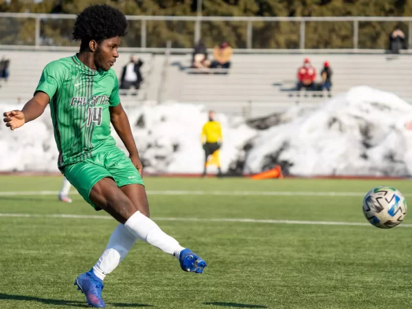
[[[177,240],[164,233],[155,222],[144,216],[144,214],[141,214],[140,211],[135,212],[135,214],[124,223],[124,226],[137,238],[152,244],[165,253],[174,255],[177,259],[179,259],[180,251],[185,249],[181,247]]]

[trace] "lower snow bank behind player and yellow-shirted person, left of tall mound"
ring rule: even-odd
[[[2,111],[21,108],[7,104],[0,104],[0,107]],[[146,172],[203,172],[201,131],[207,121],[207,110],[203,106],[146,105],[126,110],[126,113]],[[216,120],[225,137],[220,159],[222,170],[227,170],[238,156],[238,148],[242,148],[256,130],[240,117],[216,114]],[[112,135],[117,146],[126,152],[115,130]],[[58,172],[57,158],[49,108],[39,119],[17,130],[0,126],[0,171]]]

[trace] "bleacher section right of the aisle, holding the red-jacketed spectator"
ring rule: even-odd
[[[305,57],[310,58],[318,76],[323,62],[330,62],[334,94],[367,85],[412,101],[409,55],[386,54],[234,54],[227,75],[189,73],[185,68],[190,64],[190,55],[171,56],[165,96],[179,102],[207,104],[225,113],[242,113],[251,106],[252,116],[279,111],[297,102],[318,104],[325,99],[312,95],[297,99],[290,90],[295,87],[297,69]]]

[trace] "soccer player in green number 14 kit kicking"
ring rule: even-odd
[[[174,256],[183,271],[203,273],[207,266],[149,218],[142,164],[111,69],[119,57],[117,48],[126,27],[124,14],[111,6],[86,8],[73,27],[73,39],[81,41],[80,52],[50,62],[34,97],[21,111],[4,113],[6,126],[15,130],[39,117],[50,104],[60,152],[58,168],[87,203],[96,210],[104,209],[119,222],[98,262],[75,281],[87,303],[96,308],[106,306],[102,299],[104,277],[137,240]],[[115,146],[110,123],[129,157]]]

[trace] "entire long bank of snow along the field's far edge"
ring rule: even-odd
[[[146,172],[202,172],[203,106],[144,105],[127,113]],[[412,130],[404,126],[412,106],[391,93],[355,87],[317,108],[295,106],[264,121],[216,118],[224,172],[255,173],[280,164],[286,174],[301,176],[412,174]],[[57,171],[57,157],[48,110],[13,132],[0,126],[0,171]]]

